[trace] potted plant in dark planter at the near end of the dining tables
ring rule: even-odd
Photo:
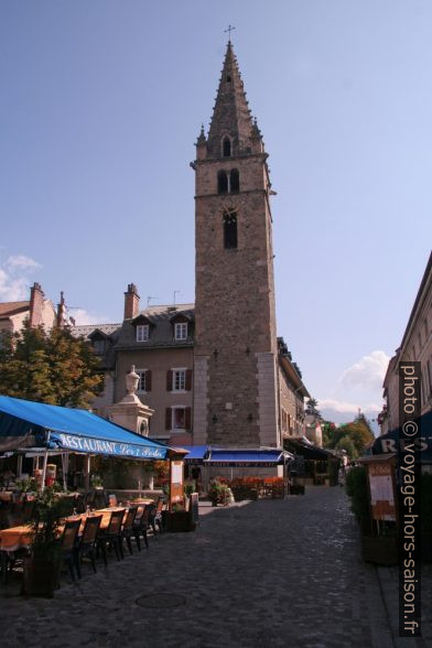
[[[35,500],[31,520],[30,554],[24,559],[23,593],[52,597],[62,565],[60,526],[66,503],[45,488]]]

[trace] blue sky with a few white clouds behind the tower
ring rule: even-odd
[[[325,413],[381,402],[431,249],[432,4],[3,0],[0,300],[194,300],[190,161],[233,35],[270,154],[278,333]],[[71,311],[74,314],[74,311]]]

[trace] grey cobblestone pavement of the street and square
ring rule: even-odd
[[[361,561],[342,488],[218,508],[195,533],[150,538],[149,551],[83,571],[51,601],[3,588],[3,648],[432,646],[396,638],[397,571]],[[153,594],[162,607],[136,603]],[[168,607],[173,594],[182,603]]]

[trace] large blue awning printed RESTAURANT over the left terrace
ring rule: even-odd
[[[32,445],[144,460],[164,460],[170,451],[87,410],[0,396],[0,450]]]

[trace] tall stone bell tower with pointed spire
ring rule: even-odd
[[[280,446],[270,180],[228,42],[195,170],[194,443]]]

